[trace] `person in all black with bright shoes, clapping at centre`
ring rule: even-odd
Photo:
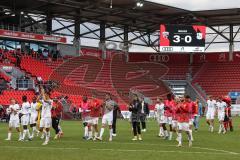
[[[140,114],[141,114],[141,102],[138,99],[138,96],[135,94],[133,101],[129,106],[129,111],[132,113],[131,122],[133,128],[133,141],[140,140],[142,141],[141,136],[141,127],[140,127]]]

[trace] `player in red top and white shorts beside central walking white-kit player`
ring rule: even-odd
[[[88,131],[88,140],[96,140],[98,137],[98,119],[101,115],[102,108],[101,108],[101,101],[93,98],[90,100],[89,103],[89,109],[90,109],[90,121],[89,121],[89,131]],[[92,137],[94,131],[94,137]]]

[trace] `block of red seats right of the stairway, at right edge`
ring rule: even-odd
[[[231,91],[240,91],[240,64],[236,62],[205,63],[194,77],[207,95],[223,96]]]

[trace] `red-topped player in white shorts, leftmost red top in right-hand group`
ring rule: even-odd
[[[165,124],[169,125],[169,134],[168,131],[166,129],[166,127],[164,127],[164,136],[165,139],[169,139],[172,140],[172,108],[173,105],[175,104],[174,102],[174,98],[172,94],[168,94],[167,95],[167,100],[164,101],[164,115],[165,115]]]

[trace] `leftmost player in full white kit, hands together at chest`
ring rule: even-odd
[[[12,137],[12,128],[16,128],[17,132],[19,133],[19,141],[22,140],[22,133],[20,132],[20,119],[19,119],[19,111],[20,106],[16,104],[16,100],[11,98],[10,100],[11,105],[7,109],[7,113],[10,114],[9,120],[9,128],[8,128],[8,137],[7,141],[11,140]]]

